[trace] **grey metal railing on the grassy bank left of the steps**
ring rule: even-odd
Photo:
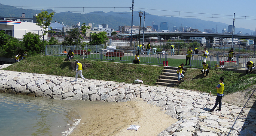
[[[100,47],[100,48],[94,48]],[[132,62],[135,59],[135,54],[138,53],[137,50],[116,50],[116,49],[103,49],[103,45],[95,45],[95,46],[84,46],[81,45],[46,45],[45,52],[46,55],[58,55],[58,56],[66,56],[69,50],[91,50],[87,52],[87,54],[82,53],[76,54],[75,57],[79,58],[91,58],[91,59],[99,59],[99,60],[116,60],[116,61],[130,61]],[[107,53],[114,52],[114,53]],[[167,60],[168,53],[165,52],[150,52],[150,55],[147,55],[147,52],[143,52],[140,54],[140,62],[142,63],[154,63],[161,64],[163,60]],[[114,55],[115,54],[115,55]],[[119,54],[119,55],[117,55]],[[122,55],[120,57],[120,54]]]

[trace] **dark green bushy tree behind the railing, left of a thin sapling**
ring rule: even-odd
[[[71,33],[69,36],[65,37],[61,44],[67,45],[67,44],[80,44],[80,33],[78,31],[78,28],[72,29]]]

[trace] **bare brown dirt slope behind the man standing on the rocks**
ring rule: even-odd
[[[244,91],[224,95],[222,101],[239,107],[256,109],[256,85]]]

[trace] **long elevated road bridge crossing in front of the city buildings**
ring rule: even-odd
[[[117,37],[128,38],[131,37],[131,33],[119,33]],[[139,37],[139,33],[133,33],[132,37]],[[140,35],[140,38],[143,37],[143,34]],[[204,32],[144,32],[144,38],[158,37],[164,39],[170,39],[171,37],[179,37],[181,39],[188,40],[190,37],[205,37],[206,46],[213,44],[214,37],[218,38],[232,38],[231,33],[204,33]],[[233,38],[237,39],[253,39],[254,45],[256,45],[256,35],[238,35],[234,34]]]

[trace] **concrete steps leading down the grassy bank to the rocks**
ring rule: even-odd
[[[157,79],[157,85],[163,86],[177,86],[178,85],[178,77],[176,74],[178,67],[164,67],[163,72]],[[183,68],[182,73],[185,73],[186,68]]]

